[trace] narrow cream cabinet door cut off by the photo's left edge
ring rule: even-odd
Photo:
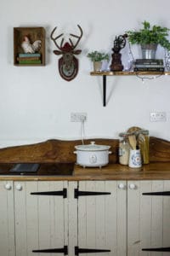
[[[12,181],[0,182],[0,255],[15,255],[14,190]]]

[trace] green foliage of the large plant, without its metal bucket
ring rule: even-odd
[[[143,28],[137,31],[127,31],[127,38],[131,44],[160,44],[170,50],[170,42],[167,39],[169,28],[150,26],[150,22],[144,20]]]

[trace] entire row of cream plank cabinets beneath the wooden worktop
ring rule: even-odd
[[[168,195],[170,181],[1,181],[0,255],[166,256]]]

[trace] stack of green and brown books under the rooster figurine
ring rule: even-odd
[[[41,54],[19,54],[17,57],[17,61],[19,64],[41,64]]]

